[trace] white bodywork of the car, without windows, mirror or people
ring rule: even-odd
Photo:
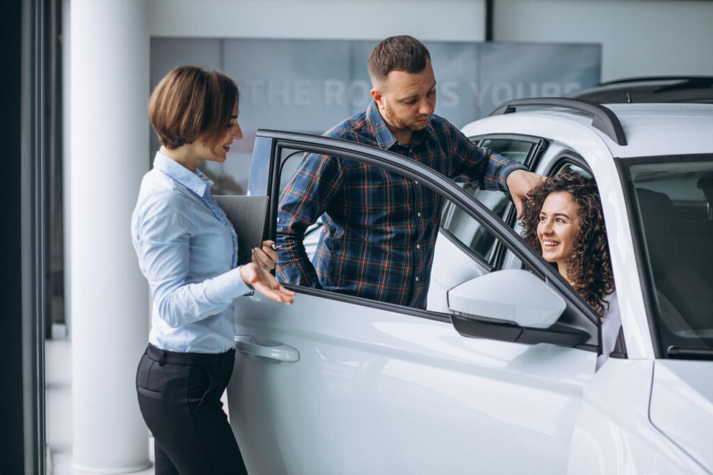
[[[710,140],[699,135],[702,127],[713,130],[713,106],[612,110],[630,145],[616,145],[591,127],[591,118],[562,109],[518,110],[478,120],[463,132],[540,137],[547,143],[535,171],[548,174],[566,156],[592,172],[607,224],[625,353],[612,354],[595,371],[593,317],[587,322],[594,345],[579,349],[459,334],[448,315],[447,291],[500,268],[519,269],[520,259],[565,298],[565,313],[577,303],[568,284],[487,205],[403,157],[344,144],[355,157],[393,161],[406,176],[441,190],[467,216],[488,223],[508,251],[486,262],[441,230],[428,310],[297,286],[289,286],[297,292],[291,307],[259,295],[236,301],[241,343],[228,400],[248,469],[276,475],[711,473],[713,362],[655,359],[620,168],[647,153],[710,153]],[[649,120],[651,114],[665,123]],[[258,132],[256,141],[250,194],[272,195],[273,217],[278,183],[272,156],[279,147],[336,146],[287,132]],[[265,231],[272,237],[275,224]]]

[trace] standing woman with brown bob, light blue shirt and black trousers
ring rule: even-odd
[[[149,115],[161,147],[141,182],[131,237],[153,296],[136,390],[155,439],[155,473],[247,473],[220,402],[235,362],[233,301],[258,291],[291,304],[294,292],[270,273],[271,241],[237,266],[235,229],[198,169],[224,162],[242,138],[235,83],[176,68],[153,91]]]

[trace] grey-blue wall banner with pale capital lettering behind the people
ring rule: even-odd
[[[163,75],[185,64],[218,69],[236,81],[245,138],[235,143],[225,164],[211,163],[207,171],[220,192],[241,193],[258,128],[321,134],[369,105],[366,60],[376,43],[152,38],[150,86],[153,90]],[[436,114],[456,127],[506,100],[570,95],[600,80],[600,45],[424,44],[436,75]],[[158,150],[155,133],[151,137],[152,150]]]

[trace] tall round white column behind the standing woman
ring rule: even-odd
[[[148,292],[130,216],[148,170],[145,0],[71,0],[68,162],[73,467],[150,466],[135,370],[148,341]]]

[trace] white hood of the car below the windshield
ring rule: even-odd
[[[713,469],[713,362],[657,360],[651,422],[707,470]]]

